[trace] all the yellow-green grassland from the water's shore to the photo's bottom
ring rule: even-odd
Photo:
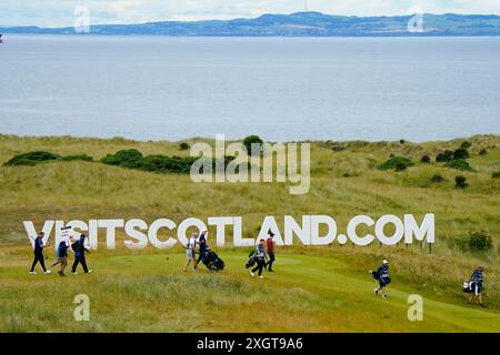
[[[192,184],[189,176],[158,175],[98,163],[0,168],[0,329],[43,331],[50,325],[49,328],[60,331],[276,331],[267,324],[267,315],[260,320],[256,314],[266,314],[267,308],[280,305],[287,312],[280,313],[278,331],[498,332],[497,251],[487,255],[462,254],[443,242],[479,230],[488,231],[496,243],[500,240],[500,183],[491,179],[491,172],[500,170],[500,138],[474,136],[470,141],[473,143],[470,163],[477,173],[457,172],[436,163],[417,164],[403,173],[376,169],[389,154],[418,161],[423,153],[454,149],[461,140],[423,144],[351,142],[342,152],[333,152],[331,143],[317,142],[311,152],[312,186],[303,196],[289,195],[288,187],[278,184]],[[0,136],[0,162],[30,150],[101,158],[126,148],[137,148],[143,153],[187,154],[178,150],[177,143],[169,142]],[[488,155],[477,154],[482,148],[488,149]],[[351,178],[343,178],[346,173]],[[447,181],[430,183],[434,173]],[[458,174],[468,178],[469,189],[453,189]],[[183,257],[180,251],[167,263],[164,255],[151,248],[133,255],[129,251],[100,248],[91,256],[97,274],[63,283],[56,276],[33,278],[26,274],[30,252],[26,250],[21,221],[27,219],[41,222],[119,216],[151,222],[164,216],[180,221],[187,216],[242,215],[244,235],[254,236],[267,214],[278,217],[329,214],[342,231],[349,217],[357,214],[376,217],[408,212],[436,213],[438,244],[433,255],[417,247],[296,246],[280,251],[280,273],[264,280],[262,290],[257,287],[257,280],[240,277],[240,273],[246,273],[240,266],[244,251],[228,248],[222,255],[229,270],[221,275],[203,273],[184,278],[179,274]],[[374,267],[382,256],[391,260],[392,286],[397,290],[383,305],[381,300],[373,300],[373,283],[367,276],[367,270]],[[463,306],[459,290],[478,263],[487,266],[488,312]],[[287,264],[290,267],[284,267]],[[120,267],[126,272],[119,271]],[[179,306],[189,298],[199,305],[203,300],[199,296],[200,287],[210,307]],[[94,300],[97,313],[92,313],[94,322],[84,325],[72,321],[71,313],[71,300],[82,290]],[[407,321],[407,293],[426,297],[423,323]],[[43,304],[36,302],[36,297],[43,297]]]

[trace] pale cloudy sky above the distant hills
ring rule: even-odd
[[[91,24],[163,20],[251,18],[262,13],[311,11],[334,14],[496,13],[500,0],[0,0],[0,26],[72,26],[86,6]]]

